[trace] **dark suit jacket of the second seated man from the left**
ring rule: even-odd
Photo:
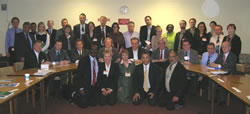
[[[60,62],[60,61],[57,61],[55,48],[52,48],[51,50],[49,50],[48,56],[49,56],[48,57],[49,61],[51,61],[51,62]],[[61,61],[63,61],[63,60],[70,61],[70,58],[69,58],[69,55],[68,55],[67,51],[65,51],[63,49],[60,50],[60,56],[61,56]]]

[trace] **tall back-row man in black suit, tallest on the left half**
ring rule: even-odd
[[[89,32],[88,24],[85,23],[86,15],[84,13],[79,15],[79,20],[80,24],[75,25],[73,30],[75,39],[83,39],[83,36]]]

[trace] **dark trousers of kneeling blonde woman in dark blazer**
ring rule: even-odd
[[[109,95],[104,96],[102,93],[100,93],[100,104],[105,105],[114,105],[116,103],[116,92],[113,91]]]

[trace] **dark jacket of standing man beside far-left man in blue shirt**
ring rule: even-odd
[[[29,33],[29,36],[31,38],[32,44],[35,42],[35,37],[31,33]],[[30,44],[32,46],[32,44]],[[17,33],[15,35],[15,44],[14,44],[15,52],[16,52],[16,61],[19,62],[22,57],[25,56],[25,54],[31,52],[31,47],[28,46],[28,43],[26,41],[26,37],[24,35],[24,32]]]

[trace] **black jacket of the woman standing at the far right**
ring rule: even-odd
[[[223,42],[224,41],[229,41],[229,37],[225,36],[224,39],[223,39]],[[240,37],[237,34],[235,34],[234,37],[231,40],[231,52],[233,52],[236,55],[237,62],[239,63],[239,56],[240,56],[240,53],[241,53],[241,40],[240,40]]]

